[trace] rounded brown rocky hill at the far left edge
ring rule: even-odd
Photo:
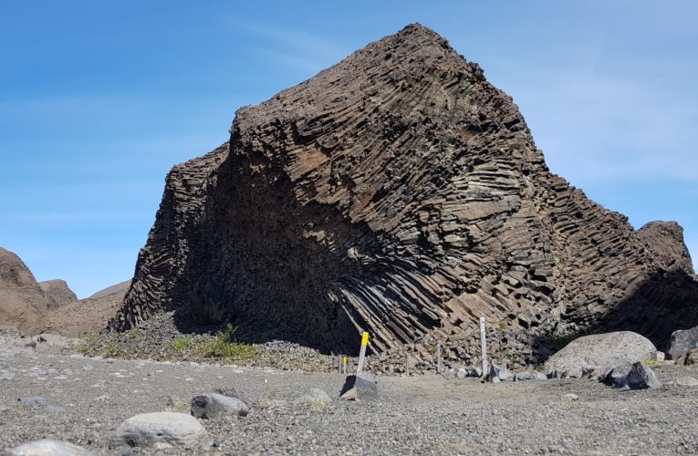
[[[47,308],[47,298],[26,264],[0,247],[0,326],[36,331]]]

